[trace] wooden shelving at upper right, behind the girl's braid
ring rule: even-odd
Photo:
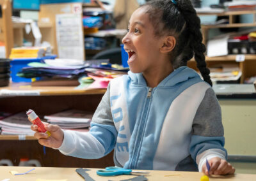
[[[252,23],[236,23],[234,20],[236,16],[239,15],[253,15]],[[207,45],[207,36],[209,33],[209,29],[216,29],[216,28],[232,28],[232,27],[256,27],[256,10],[255,11],[225,11],[223,13],[198,13],[198,15],[207,16],[207,15],[216,15],[220,16],[227,16],[228,17],[228,24],[218,24],[218,25],[201,25],[201,31],[203,35],[203,43]],[[239,68],[242,71],[242,76],[240,79],[240,83],[243,83],[244,80],[250,76],[256,75],[256,55],[253,54],[246,54],[244,55],[243,62],[236,62],[237,55],[227,55],[227,56],[220,56],[220,57],[205,57],[205,61],[207,65],[211,67],[215,64],[221,63],[228,63],[228,64],[238,64]],[[189,66],[196,69],[195,61],[190,61]]]

